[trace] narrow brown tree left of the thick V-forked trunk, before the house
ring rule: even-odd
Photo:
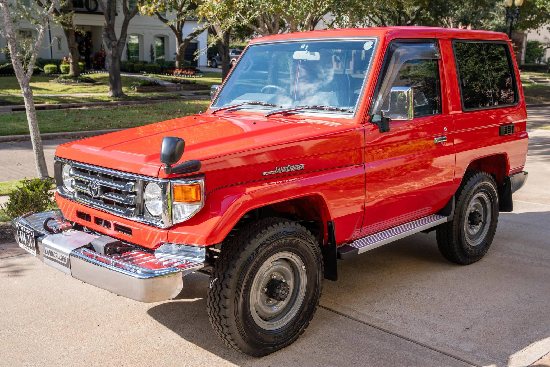
[[[36,0],[36,3],[41,8],[46,9],[51,6],[52,1],[45,0],[42,2],[41,0]],[[78,52],[78,42],[76,42],[77,30],[73,22],[73,14],[73,2],[70,0],[61,3],[61,7],[59,7],[59,9],[54,8],[53,10],[53,17],[57,18],[59,25],[62,26],[63,33],[65,34],[65,38],[67,38],[67,44],[69,46],[69,75],[76,78],[80,75],[80,68],[78,66],[80,57]]]

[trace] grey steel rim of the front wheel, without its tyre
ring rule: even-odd
[[[265,330],[287,325],[304,301],[306,282],[304,262],[295,253],[268,258],[252,280],[249,303],[256,325]]]

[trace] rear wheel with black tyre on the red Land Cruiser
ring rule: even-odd
[[[485,256],[497,230],[497,192],[497,184],[487,172],[466,171],[456,191],[453,220],[436,231],[444,258],[470,265]]]

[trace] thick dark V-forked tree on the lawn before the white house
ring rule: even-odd
[[[120,59],[126,45],[128,36],[128,24],[130,19],[138,14],[138,7],[133,10],[128,8],[128,0],[122,0],[122,13],[124,19],[120,28],[120,36],[117,39],[115,22],[117,16],[117,0],[97,0],[100,3],[105,25],[103,26],[103,42],[107,47],[107,62],[109,63],[109,97],[125,97],[122,91],[122,80],[120,79]]]

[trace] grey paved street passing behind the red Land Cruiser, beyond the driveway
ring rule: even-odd
[[[528,128],[550,126],[550,106],[533,107],[528,111]],[[70,139],[56,139],[42,141],[48,172],[53,172],[53,154],[56,147]],[[0,143],[0,181],[23,179],[23,177],[35,177],[36,168],[30,142]]]

